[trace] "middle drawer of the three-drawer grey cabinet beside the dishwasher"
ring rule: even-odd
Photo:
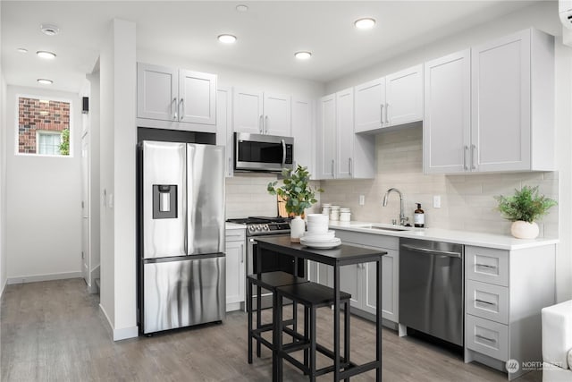
[[[468,314],[509,324],[509,289],[504,286],[467,280],[465,298]]]

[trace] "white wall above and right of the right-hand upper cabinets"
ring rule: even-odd
[[[557,254],[557,300],[572,298],[572,160],[570,146],[572,136],[570,126],[571,89],[572,89],[572,53],[570,47],[561,44],[562,25],[559,23],[558,2],[541,2],[531,5],[517,13],[509,14],[496,21],[486,22],[450,38],[443,38],[433,44],[416,49],[376,64],[369,69],[352,73],[326,84],[326,93],[345,89],[385,74],[420,64],[433,58],[447,55],[463,48],[486,42],[493,38],[524,30],[528,27],[544,30],[556,38],[556,109],[555,123],[557,144],[557,166],[559,166],[559,239]]]

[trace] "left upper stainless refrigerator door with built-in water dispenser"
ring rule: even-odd
[[[184,256],[185,143],[142,144],[143,258]]]

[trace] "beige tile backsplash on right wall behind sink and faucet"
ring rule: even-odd
[[[367,180],[322,181],[322,202],[351,208],[351,219],[391,223],[400,215],[400,199],[391,193],[387,207],[383,194],[391,187],[403,193],[404,208],[412,224],[416,203],[425,210],[425,226],[484,233],[510,233],[510,222],[495,209],[497,195],[509,195],[522,185],[539,185],[539,191],[558,200],[558,173],[443,175],[423,174],[421,126],[375,136],[377,174]],[[365,196],[365,205],[358,203]],[[433,196],[441,208],[433,208]],[[537,222],[541,236],[558,236],[558,207]]]

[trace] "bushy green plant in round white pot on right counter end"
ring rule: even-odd
[[[538,236],[538,225],[534,220],[546,215],[556,200],[538,194],[538,186],[523,186],[512,196],[497,196],[501,215],[510,220],[510,233],[518,239],[534,239]]]

